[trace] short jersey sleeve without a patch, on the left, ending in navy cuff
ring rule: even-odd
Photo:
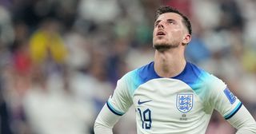
[[[108,101],[106,101],[107,107],[111,112],[118,116],[122,116],[125,112],[128,111],[131,104],[133,104],[132,98],[129,93],[129,77],[125,75],[120,80],[118,80],[116,89],[114,89],[114,93]]]

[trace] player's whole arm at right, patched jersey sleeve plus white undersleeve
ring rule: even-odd
[[[237,134],[256,134],[256,123],[246,107],[230,92],[227,85],[217,77],[208,82],[210,104],[234,127]]]

